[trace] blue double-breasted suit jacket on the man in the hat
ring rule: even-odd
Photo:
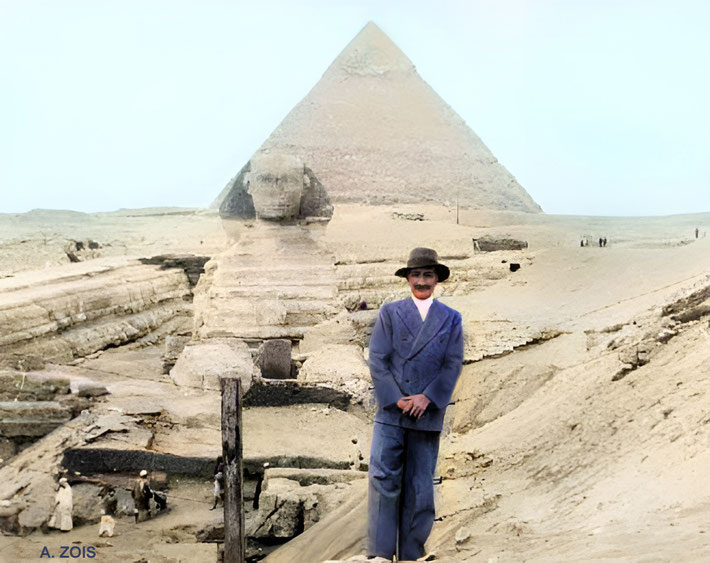
[[[441,431],[463,364],[460,313],[434,300],[422,321],[412,298],[383,305],[370,338],[369,364],[375,422]],[[402,414],[397,401],[418,393],[431,401],[422,417]]]

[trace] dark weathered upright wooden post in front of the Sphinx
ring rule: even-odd
[[[224,458],[224,563],[244,563],[242,489],[242,387],[239,378],[221,377],[222,456]]]

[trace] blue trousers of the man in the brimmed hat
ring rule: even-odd
[[[398,561],[424,555],[434,524],[439,432],[375,422],[370,447],[368,555]]]

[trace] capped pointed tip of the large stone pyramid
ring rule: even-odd
[[[388,72],[409,72],[414,64],[389,36],[369,21],[333,61],[329,72],[380,76]]]

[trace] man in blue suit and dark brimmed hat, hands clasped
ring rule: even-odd
[[[434,523],[433,477],[444,412],[463,364],[461,315],[434,288],[449,277],[436,251],[415,248],[412,297],[380,309],[370,339],[377,414],[370,449],[368,551],[398,561],[424,555]]]

